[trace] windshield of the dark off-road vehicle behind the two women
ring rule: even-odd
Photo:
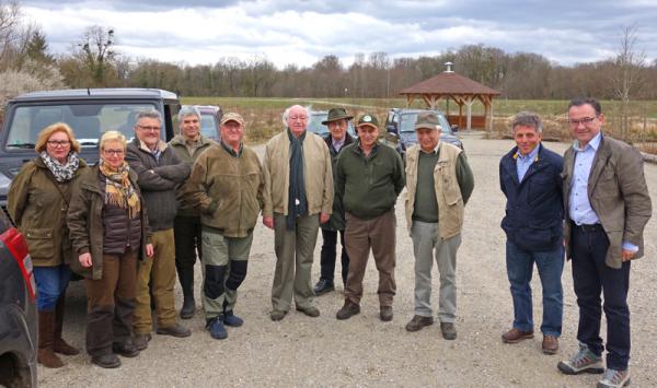
[[[7,149],[33,149],[38,133],[55,122],[68,124],[82,148],[96,148],[101,134],[118,130],[131,140],[135,117],[153,104],[61,104],[20,106],[8,128]]]

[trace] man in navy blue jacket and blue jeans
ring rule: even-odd
[[[505,343],[533,338],[530,281],[535,262],[543,286],[543,353],[558,350],[562,331],[564,269],[563,157],[541,144],[541,119],[521,111],[511,124],[517,146],[499,162],[499,184],[507,198],[507,275],[514,299],[514,327]]]

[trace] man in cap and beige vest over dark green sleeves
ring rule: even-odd
[[[457,338],[457,250],[461,245],[463,208],[474,188],[472,171],[461,149],[440,141],[433,111],[415,121],[418,144],[406,151],[406,223],[415,254],[415,315],[406,330],[434,324],[431,267],[440,273],[438,319],[446,340]]]

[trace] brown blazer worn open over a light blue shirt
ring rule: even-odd
[[[568,259],[572,225],[568,214],[568,195],[574,164],[575,150],[568,148],[564,155],[562,173],[566,213],[564,239]],[[623,242],[638,246],[638,252],[634,258],[642,257],[643,230],[653,214],[653,208],[644,176],[643,157],[638,151],[622,141],[602,137],[591,166],[587,191],[591,208],[598,214],[609,237],[609,249],[604,260],[607,266],[621,268]]]

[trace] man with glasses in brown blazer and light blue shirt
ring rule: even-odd
[[[562,173],[564,237],[579,306],[579,351],[557,366],[567,375],[604,372],[598,387],[622,387],[630,384],[630,263],[643,256],[643,230],[653,213],[643,158],[633,146],[603,136],[604,115],[596,99],[573,99],[568,121],[575,141]]]

